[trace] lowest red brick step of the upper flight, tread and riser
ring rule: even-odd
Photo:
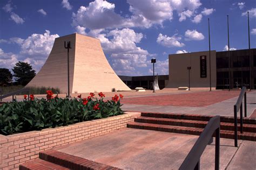
[[[173,126],[173,125],[139,123],[139,122],[128,123],[127,128],[155,130],[155,131],[172,132],[172,133],[193,134],[193,135],[200,135],[201,132],[203,132],[203,130],[204,130],[203,128],[192,128],[192,127],[187,127],[187,126]],[[220,130],[220,137],[234,139],[234,131]],[[252,133],[252,132],[240,133],[238,131],[238,139],[256,141],[256,133]]]

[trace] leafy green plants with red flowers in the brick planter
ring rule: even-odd
[[[104,96],[98,100],[93,93],[87,98],[72,98],[71,100],[53,97],[50,91],[46,96],[47,99],[33,99],[33,96],[30,96],[30,99],[31,97],[32,100],[29,101],[14,101],[0,106],[1,134],[55,128],[124,113],[120,108],[122,95],[120,99],[115,95],[111,101],[106,102],[103,100]]]

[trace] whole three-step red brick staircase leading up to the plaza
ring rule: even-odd
[[[206,124],[214,116],[188,114],[142,113],[128,123],[127,128],[155,130],[172,133],[200,135]],[[238,118],[238,139],[256,141],[256,119],[243,119],[243,133],[240,133]],[[234,139],[234,118],[220,117],[220,137]]]

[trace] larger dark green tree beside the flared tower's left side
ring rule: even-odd
[[[32,69],[32,66],[28,62],[19,61],[12,69],[17,84],[26,86],[33,77],[36,75],[36,71]]]

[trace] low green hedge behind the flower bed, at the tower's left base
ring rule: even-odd
[[[1,89],[3,90],[3,95],[20,90],[22,88],[24,88],[24,86],[21,86],[21,85],[1,87]],[[53,93],[60,94],[59,88],[53,88],[53,87],[26,87],[26,88],[29,88],[29,93],[34,95],[45,94],[46,90],[52,90]],[[17,95],[25,95],[25,94],[26,92],[23,92]]]

